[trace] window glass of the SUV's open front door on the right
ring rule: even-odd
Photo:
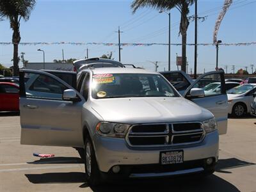
[[[225,94],[225,82],[221,83],[221,74],[209,74],[202,77],[192,88],[204,90],[205,97]],[[186,97],[190,97],[190,90]]]

